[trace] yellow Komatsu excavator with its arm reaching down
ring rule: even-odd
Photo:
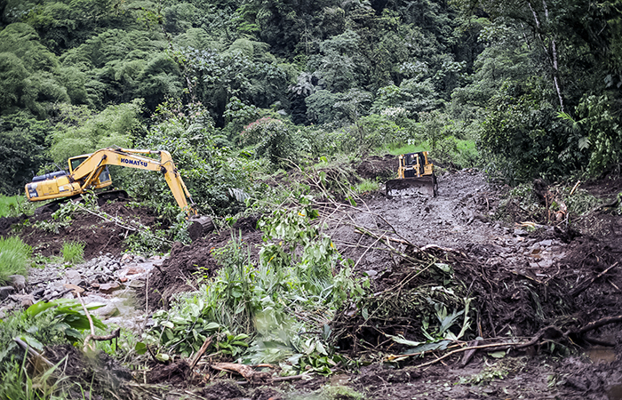
[[[160,159],[147,155],[157,155]],[[68,160],[68,171],[51,172],[33,178],[26,185],[26,196],[31,202],[57,199],[44,206],[45,210],[54,211],[63,201],[79,198],[89,190],[112,185],[108,165],[162,172],[179,208],[187,213],[188,218],[197,216],[195,203],[172,162],[171,154],[163,150],[102,148],[92,154],[71,157]],[[127,197],[127,193],[123,190],[104,191],[98,193],[98,197],[100,201],[106,201]]]

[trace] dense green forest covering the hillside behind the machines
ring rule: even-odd
[[[620,0],[3,0],[0,192],[164,148],[204,209],[255,171],[426,142],[510,183],[622,152]],[[464,148],[461,143],[476,146]],[[160,178],[120,172],[134,196]]]

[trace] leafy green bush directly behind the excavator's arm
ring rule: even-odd
[[[229,148],[216,145],[222,136],[215,131],[207,109],[200,104],[184,107],[171,101],[158,108],[155,118],[156,124],[137,146],[171,153],[200,212],[224,214],[239,210],[241,204],[229,195],[230,189],[249,191],[255,169],[247,160],[231,156]],[[132,196],[150,199],[158,212],[176,220],[179,207],[171,205],[176,203],[161,174],[132,170],[116,176],[119,185]]]

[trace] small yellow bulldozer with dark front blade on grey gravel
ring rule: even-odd
[[[385,184],[387,197],[438,195],[435,166],[427,159],[427,151],[398,156],[397,179]]]

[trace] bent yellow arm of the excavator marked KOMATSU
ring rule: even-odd
[[[143,156],[145,155],[145,156]],[[160,156],[159,160],[147,155]],[[80,183],[82,192],[95,184],[107,165],[120,165],[140,170],[162,172],[166,183],[171,188],[179,208],[189,216],[197,215],[195,202],[186,188],[184,180],[172,162],[171,154],[164,150],[136,150],[129,148],[102,148],[87,157],[72,171],[71,177]]]

